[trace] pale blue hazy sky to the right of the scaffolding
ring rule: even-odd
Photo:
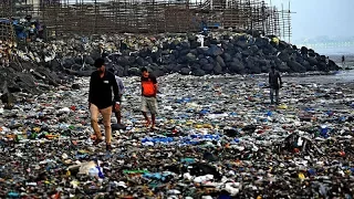
[[[266,2],[270,0],[266,0]],[[273,6],[291,3],[292,41],[304,38],[353,36],[354,0],[271,0]]]

